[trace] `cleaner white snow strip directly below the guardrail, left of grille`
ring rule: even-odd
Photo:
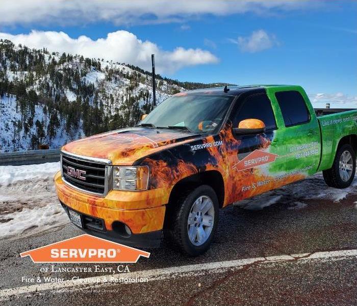
[[[23,180],[52,180],[59,170],[59,162],[39,165],[0,166],[0,186],[15,184]]]

